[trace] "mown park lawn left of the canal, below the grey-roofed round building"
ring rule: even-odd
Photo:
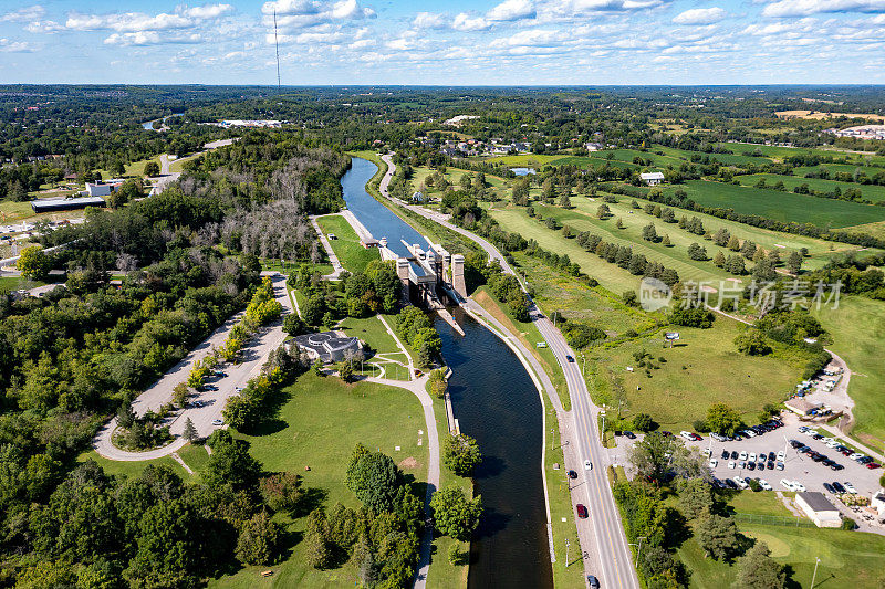
[[[287,389],[282,406],[267,433],[238,438],[248,440],[250,452],[266,471],[291,471],[302,475],[306,488],[316,490],[316,503],[331,508],[341,502],[358,507],[358,499],[344,485],[344,471],[357,442],[378,449],[416,481],[427,476],[427,439],[424,413],[408,391],[374,383],[345,385],[335,377],[302,375]],[[418,445],[420,440],[421,445]],[[396,451],[395,446],[400,446]],[[404,465],[404,466],[406,466]],[[310,471],[305,471],[310,466]],[[420,491],[421,497],[424,491]],[[306,517],[291,520],[278,515],[293,540],[289,556],[273,567],[244,567],[235,575],[210,579],[214,588],[345,587],[356,581],[357,570],[345,565],[334,570],[314,570],[304,564],[300,543]],[[269,578],[259,577],[272,569]],[[434,574],[434,569],[430,569]]]

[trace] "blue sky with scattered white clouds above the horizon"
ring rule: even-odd
[[[0,0],[0,83],[885,83],[885,0]]]

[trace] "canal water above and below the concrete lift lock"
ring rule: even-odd
[[[376,171],[373,162],[353,158],[341,180],[347,208],[374,238],[386,236],[388,248],[399,254],[406,253],[400,239],[426,246],[415,229],[366,192],[365,185]],[[436,322],[442,356],[454,371],[449,381],[452,409],[461,431],[477,439],[485,455],[475,480],[486,515],[471,543],[468,587],[552,588],[538,389],[503,341],[461,309],[452,314],[464,337],[446,322]]]

